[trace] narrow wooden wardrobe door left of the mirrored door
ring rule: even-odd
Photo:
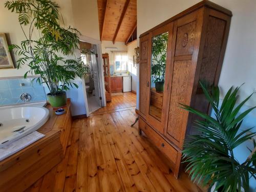
[[[148,90],[148,35],[140,38],[140,65],[139,65],[139,112],[146,118],[147,115],[147,90]]]

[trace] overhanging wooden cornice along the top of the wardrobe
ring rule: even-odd
[[[215,4],[215,3],[212,3],[212,2],[210,2],[210,1],[208,1],[208,0],[203,0],[202,2],[199,2],[198,4],[196,4],[196,5],[194,5],[194,6],[190,7],[190,8],[188,8],[188,9],[186,9],[185,11],[182,11],[181,13],[179,13],[179,14],[173,16],[172,18],[169,18],[168,20],[165,20],[165,22],[163,22],[163,23],[157,25],[156,27],[154,27],[154,28],[152,28],[152,29],[150,29],[150,30],[148,30],[148,31],[146,31],[146,32],[144,32],[144,33],[142,33],[142,34],[140,35],[140,37],[142,37],[142,36],[144,36],[144,35],[146,35],[146,34],[152,32],[152,31],[156,30],[156,29],[159,28],[159,27],[164,26],[165,24],[168,24],[168,23],[170,23],[170,22],[173,22],[174,20],[176,20],[176,19],[178,19],[178,18],[180,18],[180,17],[183,17],[183,16],[185,16],[185,15],[191,13],[191,12],[194,12],[194,11],[196,11],[196,10],[202,8],[202,7],[211,8],[211,9],[214,9],[214,10],[216,10],[216,11],[222,12],[222,13],[228,15],[228,16],[232,16],[232,12],[231,12],[230,10],[228,10],[228,9],[226,9],[226,8],[224,8],[224,7],[221,7],[221,6],[219,6],[219,5]],[[129,38],[130,38],[130,37],[129,37]]]

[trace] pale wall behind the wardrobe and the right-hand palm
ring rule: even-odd
[[[256,25],[254,25],[256,1],[211,1],[231,10],[233,13],[219,87],[223,94],[231,86],[240,86],[245,83],[239,92],[241,101],[241,99],[256,91]],[[137,1],[137,36],[198,2],[200,0],[161,0],[157,3],[155,0]],[[139,46],[139,41],[137,44]],[[137,84],[137,91],[138,88]],[[221,98],[223,98],[223,95]],[[255,105],[256,94],[246,103],[243,110]],[[250,113],[243,124],[243,128],[256,125],[256,110]],[[245,146],[237,150],[239,157],[244,159],[246,153],[248,153]],[[255,180],[251,183],[251,186],[256,190]]]

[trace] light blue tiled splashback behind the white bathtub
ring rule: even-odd
[[[31,95],[30,102],[46,101],[44,87],[33,78],[0,79],[0,106],[23,103],[19,96],[23,93]],[[24,84],[23,84],[24,83]]]

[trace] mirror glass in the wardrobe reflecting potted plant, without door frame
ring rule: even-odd
[[[150,114],[161,120],[168,32],[152,38]]]

